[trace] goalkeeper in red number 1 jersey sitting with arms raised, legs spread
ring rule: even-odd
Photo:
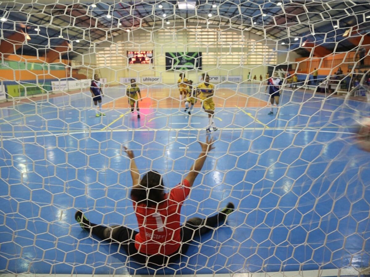
[[[131,199],[139,225],[139,232],[125,226],[96,225],[88,220],[81,211],[75,219],[81,227],[102,240],[120,243],[129,257],[142,264],[153,263],[165,266],[178,260],[185,253],[192,239],[209,232],[225,223],[233,211],[230,202],[221,212],[205,219],[190,218],[180,225],[181,206],[189,195],[191,187],[202,170],[207,154],[213,149],[213,140],[207,137],[206,143],[199,142],[202,151],[191,166],[184,181],[165,193],[162,176],[156,171],[148,171],[140,180],[135,164],[134,153],[127,150],[131,159],[130,172],[133,187]]]

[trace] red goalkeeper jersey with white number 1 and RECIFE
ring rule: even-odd
[[[190,184],[184,180],[165,194],[158,209],[137,204],[134,209],[139,224],[135,247],[140,253],[169,255],[180,247],[181,206],[190,193]]]

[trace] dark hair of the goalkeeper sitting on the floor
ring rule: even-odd
[[[162,175],[157,171],[148,171],[142,177],[140,184],[131,189],[131,199],[138,204],[157,206],[164,200],[164,185]]]

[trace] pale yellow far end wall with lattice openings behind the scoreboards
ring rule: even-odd
[[[85,54],[74,58],[84,66],[100,68],[100,77],[107,78],[110,85],[118,85],[122,77],[154,76],[160,78],[159,82],[175,84],[180,72],[166,71],[166,52],[202,53],[202,70],[186,73],[186,78],[193,81],[203,72],[211,76],[242,76],[242,80],[246,80],[251,72],[251,79],[254,75],[257,80],[260,75],[265,79],[266,64],[285,64],[300,57],[295,52],[289,53],[286,47],[277,45],[276,41],[241,30],[218,31],[196,27],[175,31],[166,28],[156,31],[138,29],[125,32],[112,42],[95,44]],[[154,51],[153,64],[128,66],[127,51],[151,50]]]

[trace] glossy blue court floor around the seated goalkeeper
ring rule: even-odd
[[[238,93],[268,100],[257,86]],[[121,88],[111,88],[103,102],[120,96]],[[198,156],[197,140],[205,141],[205,113],[198,106],[191,117],[178,108],[142,108],[137,119],[127,108],[95,117],[87,92],[1,108],[0,273],[369,267],[370,156],[353,142],[369,103],[288,90],[281,102],[277,116],[268,107],[216,109],[215,149],[182,220],[211,215],[229,201],[236,211],[178,264],[149,269],[117,244],[89,237],[74,213],[83,209],[94,223],[137,228],[122,147],[134,150],[141,173],[157,170],[172,188]]]

